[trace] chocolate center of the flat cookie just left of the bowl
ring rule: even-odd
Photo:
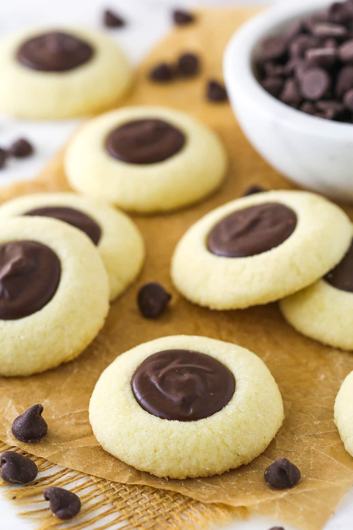
[[[130,164],[163,162],[183,148],[185,135],[166,121],[134,120],[114,129],[106,138],[107,152]]]

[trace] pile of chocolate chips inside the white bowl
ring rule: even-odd
[[[336,2],[264,39],[257,72],[264,89],[283,103],[353,123],[353,0]]]

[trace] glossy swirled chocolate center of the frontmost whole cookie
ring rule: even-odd
[[[230,370],[210,355],[165,350],[151,355],[131,379],[136,401],[153,416],[193,421],[220,411],[236,383]]]

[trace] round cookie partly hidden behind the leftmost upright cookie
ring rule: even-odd
[[[119,296],[138,276],[144,243],[138,228],[121,211],[105,202],[75,193],[36,193],[5,202],[0,217],[55,217],[80,228],[97,246],[108,273],[110,299]]]

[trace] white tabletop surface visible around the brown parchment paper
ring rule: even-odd
[[[278,0],[281,1],[281,0]],[[282,0],[287,2],[288,0]],[[295,0],[293,0],[295,1]],[[202,0],[205,4],[246,4],[268,3],[264,0]],[[308,1],[309,3],[309,1]],[[170,7],[195,5],[190,0],[10,0],[1,2],[0,36],[21,28],[24,25],[55,23],[59,25],[86,25],[100,27],[104,7],[115,8],[129,21],[124,29],[110,30],[111,35],[120,42],[133,62],[143,58],[170,28]],[[0,77],[1,82],[1,77]],[[0,146],[6,146],[21,136],[33,142],[35,156],[23,161],[11,161],[5,170],[0,171],[0,186],[15,180],[31,179],[37,174],[50,157],[64,144],[74,131],[78,121],[70,122],[25,122],[0,116]],[[32,523],[15,515],[14,504],[6,501],[0,494],[0,530],[30,530]],[[342,501],[337,513],[331,518],[325,530],[349,530],[353,528],[353,491]],[[97,526],[99,524],[97,523]],[[282,526],[275,519],[251,515],[246,522],[236,522],[228,530],[268,530],[273,526]],[[295,530],[285,526],[285,530]]]

